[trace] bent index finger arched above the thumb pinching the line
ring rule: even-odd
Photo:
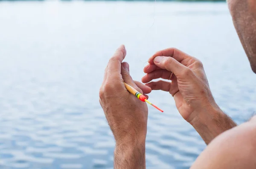
[[[183,60],[185,59],[192,59],[193,57],[184,53],[183,51],[180,51],[176,48],[167,48],[164,49],[162,51],[158,51],[157,53],[155,53],[153,56],[151,56],[148,59],[148,63],[149,64],[154,64],[154,58],[157,56],[167,56],[167,57],[172,57],[175,60],[177,60],[178,62],[180,62],[181,64],[183,64]]]

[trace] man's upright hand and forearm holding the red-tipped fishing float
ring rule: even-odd
[[[122,63],[125,55],[125,47],[121,45],[109,60],[99,102],[116,140],[114,168],[145,169],[148,107],[129,93],[123,82],[140,93],[150,93],[151,89],[132,80],[128,63]]]

